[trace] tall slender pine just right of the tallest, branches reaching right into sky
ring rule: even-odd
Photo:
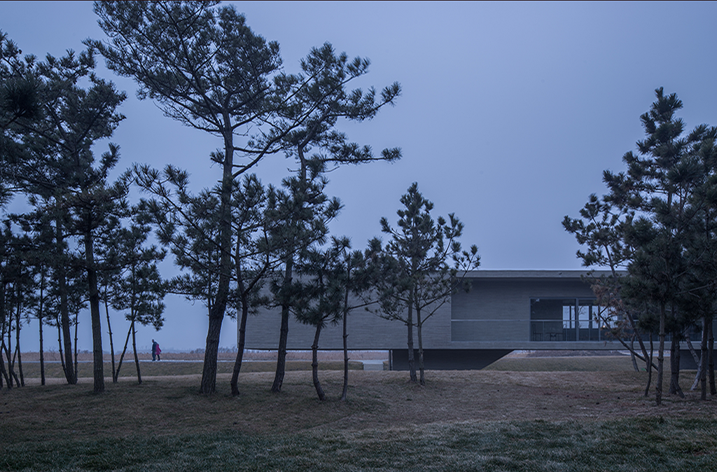
[[[337,129],[339,120],[365,121],[373,118],[385,105],[393,105],[401,93],[397,82],[381,90],[370,88],[348,90],[348,84],[369,70],[369,60],[356,57],[348,60],[331,44],[313,48],[301,62],[301,74],[282,75],[277,83],[290,91],[288,103],[278,110],[281,117],[282,144],[288,157],[295,159],[298,169],[285,179],[285,193],[277,206],[283,215],[280,238],[284,274],[275,280],[274,293],[282,308],[277,369],[272,392],[280,392],[285,374],[286,343],[290,316],[294,265],[306,248],[321,244],[328,235],[326,222],[336,217],[340,208],[337,199],[329,200],[323,190],[328,183],[325,173],[341,164],[400,159],[399,148],[384,149],[374,156],[370,146],[348,141]],[[272,134],[270,138],[275,138]],[[313,154],[309,154],[312,153]]]

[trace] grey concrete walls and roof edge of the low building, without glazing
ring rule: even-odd
[[[492,271],[469,274],[472,288],[457,293],[424,324],[424,349],[617,349],[612,343],[531,342],[531,298],[592,298],[579,271]],[[262,309],[247,321],[247,349],[277,349],[280,310]],[[310,349],[315,329],[290,320],[288,349]],[[341,324],[322,331],[319,349],[342,349]],[[418,347],[416,329],[414,343]],[[407,328],[364,308],[348,316],[349,349],[406,349]]]

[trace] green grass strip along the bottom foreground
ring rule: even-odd
[[[717,424],[656,418],[65,440],[6,446],[3,471],[709,471]]]

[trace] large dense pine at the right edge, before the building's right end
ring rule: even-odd
[[[659,88],[655,96],[650,110],[640,117],[645,139],[637,142],[637,154],[631,151],[623,156],[627,171],[605,171],[603,180],[609,193],[603,202],[591,197],[581,212],[583,221],[566,218],[564,226],[589,248],[578,254],[584,263],[627,266],[627,276],[614,287],[619,287],[630,321],[631,312],[641,313],[640,326],[645,331],[657,331],[659,336],[655,388],[659,405],[665,337],[668,333],[673,336],[674,361],[685,329],[697,322],[695,313],[699,310],[693,303],[696,293],[690,295],[690,291],[713,285],[708,282],[709,271],[703,271],[712,263],[705,258],[702,262],[706,265],[700,265],[699,258],[695,259],[697,252],[708,250],[702,243],[697,243],[701,245],[697,252],[690,247],[700,239],[695,235],[710,231],[711,223],[705,220],[708,213],[703,211],[710,199],[695,197],[700,192],[705,194],[708,187],[703,183],[713,172],[712,161],[704,158],[712,152],[714,131],[698,126],[685,133],[683,121],[676,116],[683,106],[677,95],[665,95]],[[702,157],[698,152],[701,148],[706,151]],[[602,221],[597,222],[601,213]],[[588,220],[593,222],[586,224]],[[643,353],[647,357],[644,347]],[[651,365],[648,362],[648,368]],[[670,391],[679,394],[678,374],[679,365],[673,363]]]

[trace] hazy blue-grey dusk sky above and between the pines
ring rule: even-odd
[[[330,174],[328,193],[345,205],[331,230],[355,248],[380,235],[381,217],[396,221],[399,198],[417,181],[436,217],[455,212],[465,223],[462,242],[478,245],[482,268],[578,269],[578,246],[561,221],[577,216],[589,194],[604,193],[604,169],[623,169],[655,88],[683,100],[688,129],[717,124],[715,2],[233,3],[255,33],[279,42],[288,72],[298,72],[310,47],[331,42],[371,59],[357,86],[402,84],[395,108],[342,126],[353,141],[377,152],[400,146],[404,155]],[[0,29],[38,57],[104,37],[87,1],[2,1]],[[188,169],[198,189],[219,179],[208,157],[222,146],[218,138],[163,117],[135,98],[131,80],[100,71],[129,95],[112,140],[122,154],[118,170],[172,163]],[[275,157],[257,172],[278,183],[289,165]],[[166,327],[141,330],[139,342],[203,347],[202,313],[170,299]],[[85,318],[80,348],[90,349]],[[119,338],[125,328],[116,319]],[[235,323],[222,331],[222,346],[236,344]]]

